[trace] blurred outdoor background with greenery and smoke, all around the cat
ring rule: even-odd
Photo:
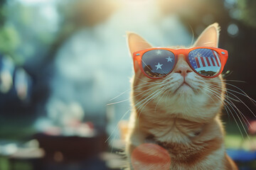
[[[240,169],[256,169],[255,9],[252,0],[0,0],[0,169],[120,169],[126,31],[189,46],[215,22],[229,52],[226,147]]]

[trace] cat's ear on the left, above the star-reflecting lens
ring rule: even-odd
[[[137,35],[136,33],[127,32],[127,41],[129,46],[129,52],[131,55],[134,52],[139,50],[145,50],[147,48],[152,47],[149,42],[146,42],[141,36]],[[135,72],[139,69],[139,64],[137,62],[134,63],[134,70]]]

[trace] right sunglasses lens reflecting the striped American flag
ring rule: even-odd
[[[214,77],[220,72],[220,57],[215,50],[199,48],[188,54],[191,67],[206,77]]]

